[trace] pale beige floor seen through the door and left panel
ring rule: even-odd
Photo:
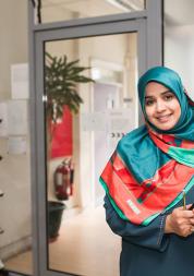
[[[120,238],[98,207],[63,220],[59,238],[49,243],[49,268],[82,276],[119,276],[120,250]],[[32,253],[9,260],[5,267],[32,275]]]

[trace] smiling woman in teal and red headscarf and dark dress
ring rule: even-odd
[[[145,125],[119,142],[100,177],[107,223],[122,237],[120,275],[193,276],[194,103],[163,67],[140,79],[138,97]]]

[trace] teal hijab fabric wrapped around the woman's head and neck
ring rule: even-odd
[[[180,139],[194,141],[194,106],[192,105],[192,100],[185,94],[179,74],[166,67],[155,67],[149,69],[138,81],[138,98],[145,120],[155,131],[161,133],[162,131],[148,122],[145,112],[145,88],[149,82],[157,82],[169,88],[177,96],[181,106],[181,117],[179,122],[173,129],[166,131],[165,133],[174,134]]]

